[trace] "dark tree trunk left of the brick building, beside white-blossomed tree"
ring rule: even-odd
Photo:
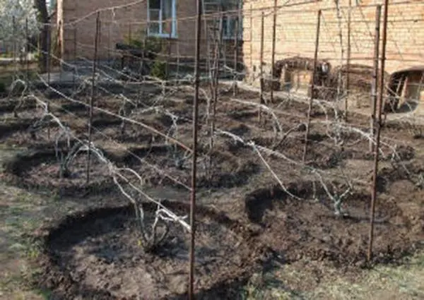
[[[40,30],[40,37],[38,40],[39,43],[39,57],[38,57],[38,66],[40,68],[41,73],[45,73],[47,71],[47,53],[49,47],[49,13],[47,12],[46,0],[34,0],[34,6],[37,8],[38,16],[37,20],[42,25]]]

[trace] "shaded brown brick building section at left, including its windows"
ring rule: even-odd
[[[238,0],[204,1],[204,11],[211,17],[202,23],[208,28],[205,30],[204,26],[201,31],[202,56],[208,54],[208,49],[213,49],[213,36],[216,35],[213,27],[217,26],[219,18],[223,18],[224,48],[228,50],[224,52],[234,52],[235,24],[240,18],[239,3]],[[218,18],[216,11],[219,10],[228,13]],[[144,32],[170,45],[172,56],[179,56],[181,60],[194,58],[196,0],[57,0],[57,40],[60,55],[65,60],[74,56],[93,58],[96,11],[100,11],[101,19],[100,59],[113,56],[115,44],[125,42],[128,37],[143,39]],[[242,28],[242,23],[239,24]],[[242,29],[239,32],[241,38]]]

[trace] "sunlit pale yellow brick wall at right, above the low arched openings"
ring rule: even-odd
[[[285,0],[278,0],[283,5]],[[295,4],[297,2],[298,4]],[[317,28],[317,11],[321,8],[322,21],[319,37],[319,59],[325,59],[332,66],[346,64],[348,37],[349,0],[340,0],[341,32],[343,47],[339,38],[338,13],[334,0],[290,1],[290,6],[278,9],[276,21],[276,60],[291,56],[314,56],[314,42]],[[361,6],[351,6],[351,64],[372,66],[375,34],[375,10],[383,0],[363,0]],[[387,61],[389,73],[403,68],[424,64],[424,2],[413,1],[400,4],[393,0],[389,4],[387,26]],[[244,2],[244,46],[243,56],[251,75],[259,72],[261,44],[261,11],[264,18],[264,71],[270,70],[273,0],[245,0]],[[251,10],[252,9],[252,13]],[[383,15],[383,10],[382,10]],[[255,76],[256,77],[256,76]]]

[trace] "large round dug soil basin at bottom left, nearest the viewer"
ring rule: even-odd
[[[178,215],[187,214],[187,205],[163,204]],[[151,224],[155,205],[143,207]],[[240,224],[225,215],[199,208],[197,222],[196,290],[216,295],[228,282],[247,277],[263,252]],[[94,299],[94,295],[102,300],[185,299],[189,234],[179,224],[169,227],[163,246],[146,253],[132,207],[100,208],[67,217],[45,240],[47,268],[41,285],[59,299]]]

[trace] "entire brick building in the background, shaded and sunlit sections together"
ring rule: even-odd
[[[348,36],[350,37],[350,63],[355,69],[367,73],[366,80],[358,79],[358,88],[367,90],[372,67],[375,14],[377,4],[384,0],[277,0],[276,61],[300,57],[306,61],[314,56],[317,28],[317,11],[322,9],[319,31],[319,60],[331,68],[346,65]],[[240,28],[238,42],[240,62],[247,71],[247,80],[257,83],[260,66],[261,14],[264,13],[264,71],[271,70],[274,0],[204,0],[201,56],[211,57],[213,39],[218,23],[222,20],[224,44],[223,56],[228,64],[233,61],[237,25]],[[114,6],[114,9],[111,7]],[[242,8],[240,10],[239,8]],[[170,46],[170,54],[192,60],[195,49],[196,0],[57,0],[57,25],[60,55],[64,59],[73,56],[93,58],[96,10],[101,13],[100,58],[114,56],[117,42],[131,36],[141,38],[141,32],[160,37]],[[224,15],[216,11],[225,11]],[[208,15],[208,13],[210,13]],[[350,15],[350,33],[348,20]],[[206,26],[205,26],[206,25]],[[420,85],[420,68],[424,65],[424,2],[422,0],[389,1],[387,27],[386,71],[404,78],[400,85],[402,95],[411,95],[408,85]],[[304,66],[302,66],[304,67]],[[410,80],[402,76],[403,70],[413,72]],[[400,73],[399,73],[400,72]],[[418,75],[417,75],[418,74]],[[310,71],[284,74],[283,81],[290,87],[302,90],[311,81]],[[418,79],[416,79],[418,78]],[[362,80],[362,81],[361,81]],[[417,81],[418,80],[418,81]],[[364,85],[365,81],[365,85]],[[406,84],[407,82],[408,84]],[[424,84],[423,84],[424,85]],[[354,88],[354,86],[353,86]],[[394,88],[399,89],[399,86]],[[303,89],[305,90],[305,89]],[[368,90],[367,90],[368,92]],[[420,97],[421,88],[413,89],[413,96]],[[424,95],[423,95],[424,97]]]

